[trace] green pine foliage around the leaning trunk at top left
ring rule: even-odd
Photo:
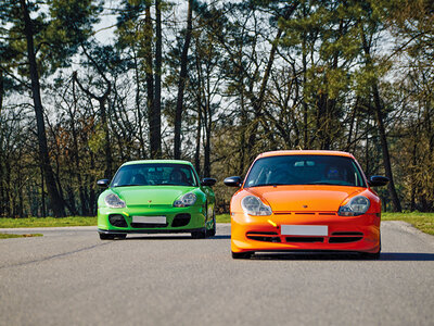
[[[47,7],[49,11],[47,12]],[[28,1],[35,48],[37,49],[39,74],[54,73],[56,68],[68,66],[78,47],[93,33],[92,25],[99,22],[102,7],[92,0],[47,0]],[[26,42],[20,1],[5,1],[0,8],[2,23],[8,24],[10,51],[18,55],[11,58],[11,66],[18,67],[22,75],[28,75],[21,63],[25,57]]]

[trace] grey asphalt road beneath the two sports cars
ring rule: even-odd
[[[404,223],[382,224],[380,261],[234,261],[225,224],[204,240],[9,231],[44,236],[0,240],[0,325],[434,325],[434,237]]]

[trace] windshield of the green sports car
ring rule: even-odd
[[[188,186],[197,181],[190,165],[146,163],[122,166],[112,181],[112,187],[126,186]]]

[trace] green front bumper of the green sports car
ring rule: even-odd
[[[132,223],[133,216],[165,216],[166,224]],[[114,223],[115,221],[118,223]],[[205,209],[200,205],[190,208],[142,205],[124,209],[100,208],[98,210],[98,229],[103,234],[191,233],[204,229],[205,221]]]

